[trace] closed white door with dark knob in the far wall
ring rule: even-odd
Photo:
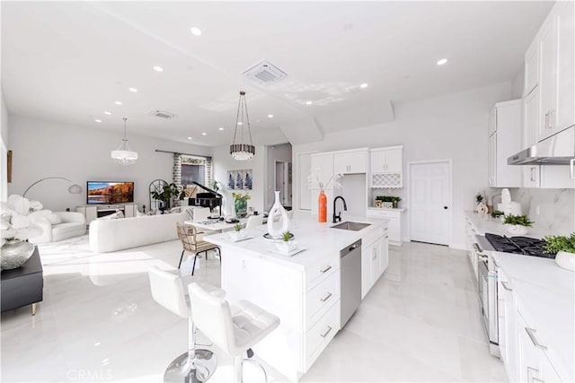
[[[410,201],[411,240],[449,245],[450,162],[411,163]]]

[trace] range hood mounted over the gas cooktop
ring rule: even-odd
[[[508,165],[570,165],[575,159],[575,125],[507,159]]]

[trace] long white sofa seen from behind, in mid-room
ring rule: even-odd
[[[95,220],[90,223],[90,249],[108,253],[178,239],[176,222],[189,219],[187,213]]]

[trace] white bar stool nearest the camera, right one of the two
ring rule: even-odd
[[[279,326],[279,318],[247,300],[230,307],[198,283],[190,283],[188,291],[194,322],[214,344],[234,357],[234,383],[242,383],[243,353],[252,357],[252,346]],[[267,382],[268,375],[260,367]]]

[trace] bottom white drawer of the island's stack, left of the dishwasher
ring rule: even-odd
[[[305,371],[307,371],[340,328],[340,300],[305,333]]]

